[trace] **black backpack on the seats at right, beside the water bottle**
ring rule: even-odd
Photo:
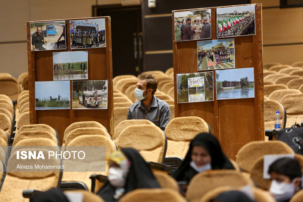
[[[278,131],[277,140],[288,144],[296,154],[303,154],[303,128],[299,124]]]

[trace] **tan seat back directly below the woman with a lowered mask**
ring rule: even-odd
[[[210,190],[221,186],[245,186],[252,182],[235,170],[208,170],[196,174],[188,184],[186,199],[199,202]]]

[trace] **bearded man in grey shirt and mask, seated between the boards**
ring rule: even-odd
[[[135,97],[138,101],[129,107],[127,120],[147,119],[164,131],[170,121],[171,112],[165,101],[154,96],[158,81],[151,73],[144,72],[138,76],[138,79],[135,89]]]

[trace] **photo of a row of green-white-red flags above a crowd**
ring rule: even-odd
[[[255,35],[255,5],[217,8],[217,37]]]

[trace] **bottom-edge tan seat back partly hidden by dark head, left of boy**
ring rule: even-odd
[[[241,190],[243,186],[222,186],[216,187],[213,190],[208,191],[199,202],[209,202],[211,199],[217,197],[219,194],[232,191],[232,190]],[[251,191],[254,194],[256,202],[275,202],[274,197],[271,196],[267,191],[264,191],[258,187],[251,187]]]

